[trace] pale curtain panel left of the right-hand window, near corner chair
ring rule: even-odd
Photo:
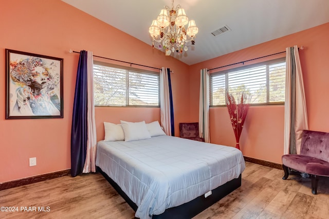
[[[210,142],[209,132],[209,83],[210,76],[207,68],[200,71],[200,99],[199,99],[199,135]]]

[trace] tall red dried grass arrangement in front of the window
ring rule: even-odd
[[[233,95],[227,93],[226,105],[227,105],[228,113],[231,118],[231,124],[235,135],[235,140],[236,140],[235,148],[239,150],[240,150],[240,145],[239,145],[240,136],[249,109],[249,103],[247,103],[248,100],[249,100],[248,95],[242,92],[240,103],[236,104]]]

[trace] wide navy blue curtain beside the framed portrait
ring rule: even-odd
[[[71,127],[71,176],[82,173],[87,151],[87,51],[80,51]]]

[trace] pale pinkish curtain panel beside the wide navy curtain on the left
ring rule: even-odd
[[[94,62],[93,52],[87,51],[87,152],[83,173],[96,172],[96,144]]]

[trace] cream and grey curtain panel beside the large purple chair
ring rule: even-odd
[[[284,154],[300,154],[303,130],[308,130],[306,101],[298,47],[286,48]]]

